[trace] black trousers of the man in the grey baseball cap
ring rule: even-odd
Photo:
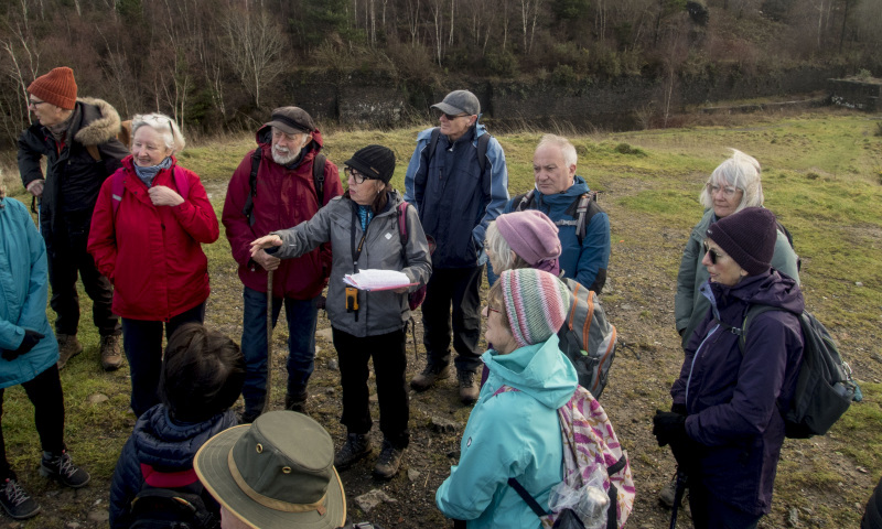
[[[454,364],[461,371],[481,367],[481,273],[484,267],[433,269],[422,302],[422,343],[428,363],[450,364],[450,331],[453,322]],[[451,303],[453,314],[451,319]]]

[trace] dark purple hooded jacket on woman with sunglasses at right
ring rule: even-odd
[[[686,346],[680,378],[670,395],[686,404],[686,431],[702,446],[700,476],[711,494],[753,515],[766,514],[784,442],[784,419],[803,359],[796,314],[803,293],[771,270],[735,287],[704,283],[711,307]],[[751,323],[745,350],[714,321],[742,327],[751,304],[778,306]]]

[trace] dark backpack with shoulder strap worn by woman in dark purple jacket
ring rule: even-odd
[[[783,311],[776,306],[751,305],[741,328],[717,322],[739,335],[738,346],[744,354],[747,330],[753,319],[768,311]],[[785,434],[790,439],[824,435],[846,413],[852,400],[860,400],[860,389],[851,378],[851,368],[839,354],[830,333],[811,313],[798,315],[805,347],[803,364],[796,380],[790,408],[779,410],[784,418]]]

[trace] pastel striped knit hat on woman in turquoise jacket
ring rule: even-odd
[[[542,270],[520,268],[499,276],[503,302],[518,347],[539,344],[556,334],[567,317],[567,287]]]

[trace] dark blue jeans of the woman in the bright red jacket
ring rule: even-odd
[[[185,323],[205,321],[205,302],[172,316],[165,323],[165,339]],[[131,409],[136,417],[159,403],[159,377],[162,373],[162,322],[122,319],[122,350],[131,374]]]

